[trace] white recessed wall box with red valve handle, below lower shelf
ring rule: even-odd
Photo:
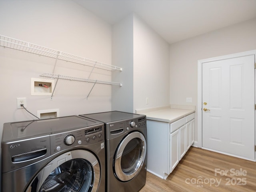
[[[31,95],[51,96],[54,90],[54,79],[31,78]]]

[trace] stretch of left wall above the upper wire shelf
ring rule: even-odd
[[[0,1],[1,35],[111,64],[111,26],[72,1]]]

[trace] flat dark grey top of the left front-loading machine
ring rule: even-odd
[[[102,124],[81,116],[66,116],[43,120],[4,123],[2,142],[31,138],[46,134],[56,134],[78,128]]]

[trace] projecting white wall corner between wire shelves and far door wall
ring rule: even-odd
[[[123,82],[121,88],[112,88],[112,110],[135,112],[169,105],[169,44],[136,14],[112,31],[113,64],[123,68],[112,74],[112,81]]]

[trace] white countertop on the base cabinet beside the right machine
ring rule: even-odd
[[[155,120],[161,122],[172,123],[176,120],[179,120],[182,117],[185,117],[189,114],[194,113],[195,110],[192,109],[173,109],[173,108],[162,108],[156,110],[143,110],[143,113],[140,113],[138,110],[137,113],[146,115],[148,120]]]

